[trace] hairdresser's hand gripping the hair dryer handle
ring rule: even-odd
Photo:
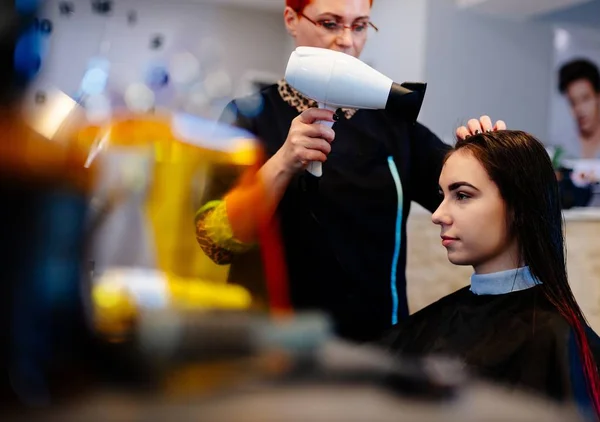
[[[335,132],[317,122],[334,122],[334,114],[331,110],[310,108],[292,121],[288,137],[274,157],[284,171],[294,174],[306,169],[311,161],[327,160]]]

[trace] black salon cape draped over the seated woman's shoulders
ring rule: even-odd
[[[465,287],[401,322],[383,343],[407,357],[457,358],[484,379],[573,401],[590,418],[574,331],[542,288],[478,296]],[[591,329],[588,341],[599,362],[600,341]]]

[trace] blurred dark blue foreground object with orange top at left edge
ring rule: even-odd
[[[48,140],[12,108],[3,110],[0,131],[1,389],[41,404],[51,374],[75,359],[83,330],[93,171],[76,143]]]

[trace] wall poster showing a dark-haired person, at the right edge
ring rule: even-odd
[[[600,207],[600,30],[556,28],[553,66],[549,150],[567,207]]]

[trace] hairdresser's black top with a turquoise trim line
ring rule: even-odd
[[[282,98],[278,85],[257,95],[233,101],[224,116],[235,116],[271,157],[299,109]],[[248,104],[262,104],[258,116],[244,113],[255,109]],[[358,110],[348,117],[333,125],[336,138],[323,176],[298,174],[278,215],[293,305],[325,310],[338,334],[366,341],[408,316],[406,219],[411,201],[430,211],[439,205],[438,178],[450,147],[401,116]],[[243,260],[232,262],[236,280],[247,270],[236,269]]]

